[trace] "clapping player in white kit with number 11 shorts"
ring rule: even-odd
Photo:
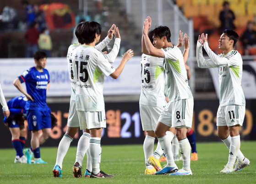
[[[224,30],[220,36],[219,49],[223,53],[216,55],[207,42],[207,34],[198,37],[196,59],[199,68],[218,68],[220,86],[220,104],[217,112],[218,137],[229,149],[229,161],[221,173],[240,171],[250,165],[240,151],[239,128],[245,118],[245,96],[241,87],[243,60],[240,53],[234,50],[238,34],[233,30]],[[204,47],[210,59],[204,59]],[[237,163],[235,164],[235,159]]]

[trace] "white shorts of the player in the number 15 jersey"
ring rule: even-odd
[[[106,128],[105,111],[90,112],[77,110],[80,130],[92,128]]]

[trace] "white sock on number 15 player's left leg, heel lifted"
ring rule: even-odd
[[[84,155],[87,152],[87,149],[89,147],[89,141],[90,141],[90,134],[87,132],[84,132],[77,144],[75,163],[78,162],[81,166],[82,166]]]

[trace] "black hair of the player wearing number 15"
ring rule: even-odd
[[[101,35],[101,26],[95,21],[86,21],[81,26],[81,37],[83,43],[92,43],[95,40],[95,34]]]

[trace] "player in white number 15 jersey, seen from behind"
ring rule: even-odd
[[[117,79],[125,63],[133,56],[129,49],[123,56],[120,65],[115,69],[105,55],[95,48],[101,35],[101,26],[94,21],[84,22],[81,26],[84,42],[72,53],[72,64],[76,79],[76,110],[80,129],[89,129],[91,139],[89,153],[92,162],[91,178],[112,178],[100,170],[101,132],[106,127],[105,107],[103,99],[103,79],[111,76]]]

